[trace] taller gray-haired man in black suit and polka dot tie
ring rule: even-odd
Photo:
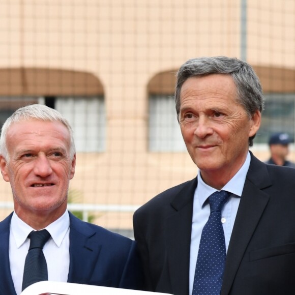
[[[249,152],[263,96],[249,64],[187,61],[176,113],[197,177],[133,218],[149,290],[174,295],[295,294],[295,171]]]

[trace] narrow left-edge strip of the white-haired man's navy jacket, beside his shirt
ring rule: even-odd
[[[9,263],[9,228],[12,214],[0,222],[0,293],[16,295]]]

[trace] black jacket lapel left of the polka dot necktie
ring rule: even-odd
[[[171,202],[175,213],[166,219],[166,249],[172,293],[189,293],[193,197],[197,180],[188,182]],[[185,292],[184,292],[185,290]]]

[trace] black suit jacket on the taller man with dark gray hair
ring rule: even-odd
[[[148,290],[189,294],[197,179],[170,188],[133,218]],[[251,163],[231,234],[221,295],[295,294],[295,169]]]

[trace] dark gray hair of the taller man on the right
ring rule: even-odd
[[[264,109],[264,99],[259,78],[252,67],[238,58],[227,56],[197,57],[184,63],[177,73],[175,87],[175,107],[179,120],[180,93],[183,83],[190,77],[210,74],[228,74],[237,88],[237,100],[251,118],[253,114]],[[249,138],[249,146],[253,145],[255,135]]]

